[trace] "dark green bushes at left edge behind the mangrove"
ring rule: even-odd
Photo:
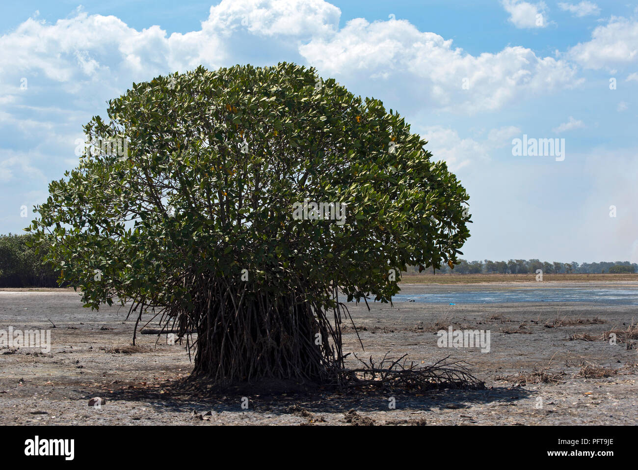
[[[0,235],[0,287],[59,287],[59,272],[27,246],[31,234]]]

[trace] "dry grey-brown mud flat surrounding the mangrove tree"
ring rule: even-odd
[[[558,285],[558,284],[556,284]],[[565,287],[574,287],[564,284]],[[563,286],[563,284],[561,284]],[[583,287],[582,283],[577,284]],[[597,289],[637,289],[638,284],[587,283]],[[616,286],[616,287],[614,287]],[[455,294],[498,285],[403,285],[402,294]],[[523,286],[525,287],[525,286]],[[530,289],[538,285],[531,283]],[[554,286],[556,287],[556,286]],[[516,284],[520,289],[521,284]],[[631,304],[597,302],[423,303],[350,305],[365,351],[346,328],[345,351],[362,359],[408,353],[432,363],[450,356],[465,360],[486,390],[438,390],[422,395],[249,395],[203,397],[177,393],[171,383],[191,370],[183,345],[157,344],[155,335],[138,335],[142,352],[117,351],[131,343],[134,321],[124,308],[100,312],[82,308],[73,291],[0,291],[0,330],[50,329],[51,351],[0,349],[0,424],[50,425],[635,425],[637,349],[609,344],[605,331],[627,329],[638,320]],[[588,322],[598,317],[599,322]],[[636,318],[634,318],[636,317]],[[556,319],[562,320],[555,322]],[[50,320],[50,321],[49,321]],[[52,323],[56,328],[52,328]],[[441,325],[490,330],[491,347],[446,349],[437,346]],[[552,326],[545,326],[545,324]],[[444,327],[444,328],[445,328]],[[515,332],[517,331],[517,332]],[[593,340],[570,340],[589,335]],[[165,343],[165,340],[163,340]],[[110,351],[110,352],[109,352]],[[352,356],[351,356],[352,357]],[[352,362],[355,365],[355,362]],[[583,366],[588,366],[583,372]],[[608,377],[590,377],[600,372]],[[524,384],[502,377],[545,371],[557,381]],[[582,376],[582,375],[585,376]],[[103,397],[100,408],[88,406]],[[394,400],[390,400],[394,398]],[[390,409],[394,401],[396,407]]]

